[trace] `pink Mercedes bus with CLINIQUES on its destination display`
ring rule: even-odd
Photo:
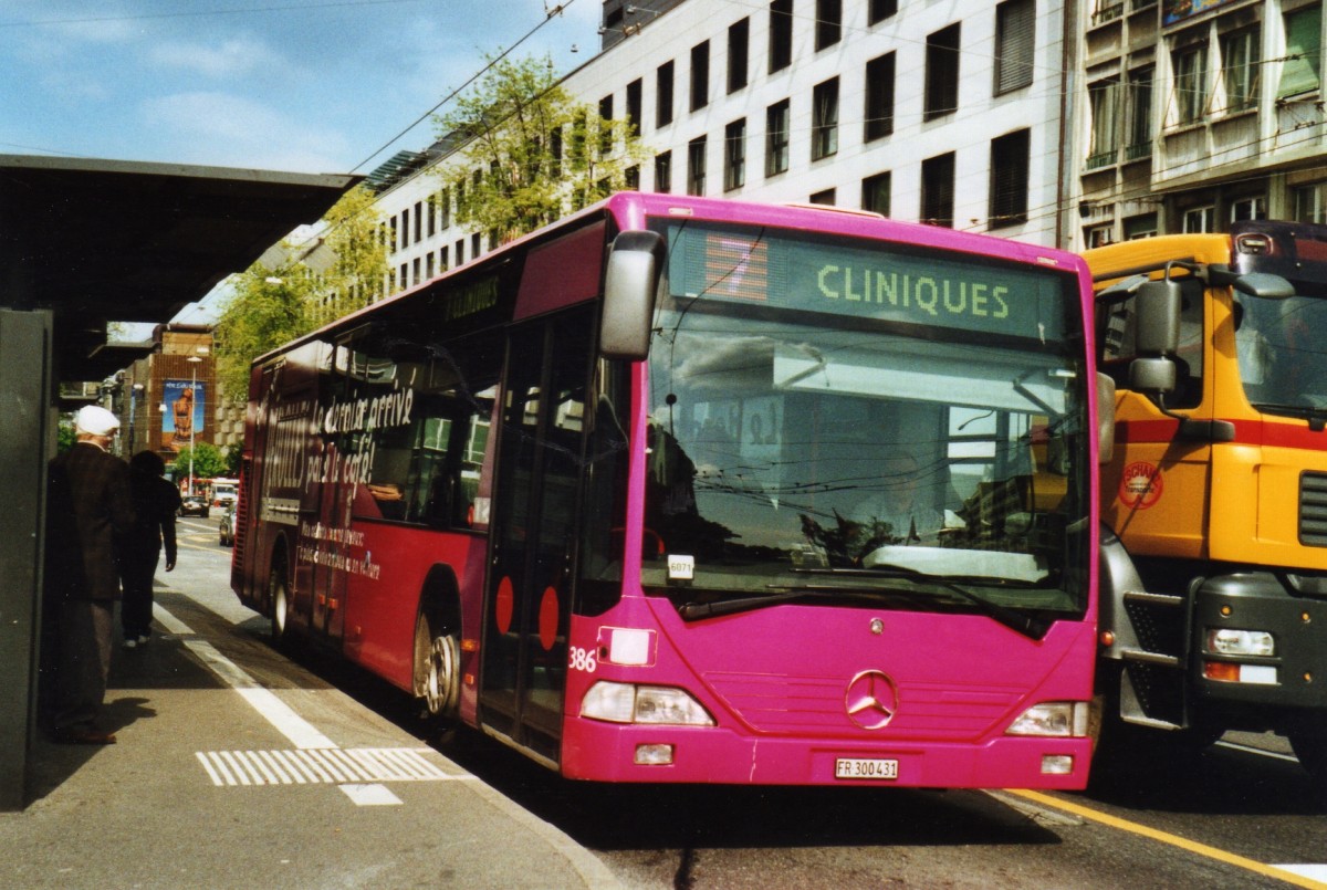
[[[571,779],[1082,788],[1089,298],[1059,251],[614,195],[253,363],[232,585]]]

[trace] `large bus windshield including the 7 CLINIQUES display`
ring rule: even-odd
[[[683,617],[766,597],[1082,614],[1071,277],[694,223],[669,251],[648,593]]]

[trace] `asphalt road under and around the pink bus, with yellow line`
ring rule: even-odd
[[[228,589],[216,519],[179,521],[179,566],[162,580],[223,618],[214,633],[261,638],[265,622]],[[364,672],[301,665],[421,731],[409,703]],[[1188,759],[1143,757],[1085,795],[592,789],[474,733],[443,752],[592,850],[626,887],[1327,889],[1327,816],[1270,735],[1227,736]]]

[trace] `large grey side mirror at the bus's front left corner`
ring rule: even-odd
[[[649,355],[654,296],[664,277],[665,257],[664,236],[658,232],[622,232],[613,239],[598,330],[598,351],[604,358],[640,362]]]

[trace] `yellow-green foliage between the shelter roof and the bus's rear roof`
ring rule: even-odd
[[[255,263],[231,277],[232,296],[216,322],[215,348],[227,399],[248,398],[255,358],[381,294],[387,252],[378,225],[373,192],[356,187],[322,218],[318,237],[281,241],[280,268]]]

